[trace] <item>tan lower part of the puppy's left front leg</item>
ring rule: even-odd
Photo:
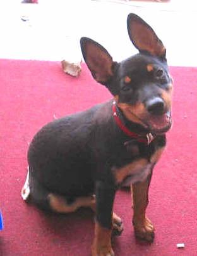
[[[105,229],[95,222],[95,238],[92,245],[92,256],[114,255],[111,245],[112,229]]]

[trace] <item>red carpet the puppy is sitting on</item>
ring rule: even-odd
[[[174,125],[155,168],[148,217],[155,224],[152,245],[135,240],[130,195],[119,191],[116,213],[124,233],[114,239],[116,256],[197,255],[197,68],[171,67],[174,77]],[[0,60],[0,231],[1,256],[88,256],[93,238],[93,215],[44,214],[21,200],[27,148],[42,125],[111,98],[93,81],[85,65],[78,78],[51,61]],[[177,249],[177,243],[185,243]]]

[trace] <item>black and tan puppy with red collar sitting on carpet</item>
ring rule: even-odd
[[[165,47],[153,29],[130,14],[128,32],[140,53],[120,63],[97,42],[81,38],[93,78],[114,99],[45,125],[28,150],[23,199],[30,194],[39,207],[61,213],[95,210],[93,256],[114,255],[111,234],[121,233],[122,222],[112,208],[121,186],[132,185],[136,236],[147,241],[154,236],[145,211],[152,170],[171,126],[172,80]]]

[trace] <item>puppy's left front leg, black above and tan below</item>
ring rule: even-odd
[[[92,256],[113,256],[112,207],[116,189],[102,181],[96,184],[96,223]]]

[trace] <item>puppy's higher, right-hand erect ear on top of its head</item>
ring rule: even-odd
[[[148,51],[157,57],[165,58],[166,50],[162,41],[144,20],[138,15],[130,13],[127,26],[129,37],[139,51]]]

